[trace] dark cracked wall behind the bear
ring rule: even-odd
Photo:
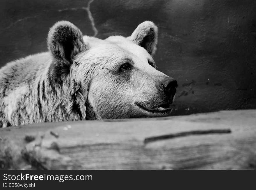
[[[159,28],[154,60],[177,79],[174,115],[256,108],[255,0],[94,0],[95,28],[81,0],[1,0],[0,67],[47,51],[49,28],[59,20],[84,35],[129,36],[145,20]]]

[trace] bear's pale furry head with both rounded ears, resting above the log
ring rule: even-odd
[[[49,75],[55,83],[65,79],[78,86],[75,103],[81,118],[166,116],[177,81],[156,69],[157,37],[151,21],[139,24],[129,37],[104,40],[83,36],[68,21],[57,22],[48,35]]]

